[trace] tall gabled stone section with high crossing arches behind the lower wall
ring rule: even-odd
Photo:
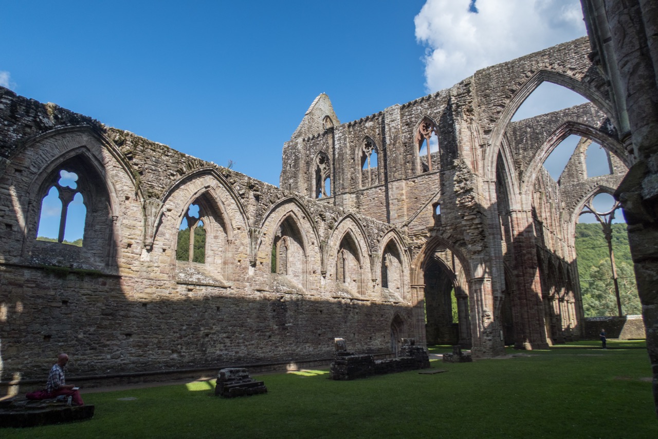
[[[631,163],[589,51],[585,38],[561,44],[349,123],[340,123],[322,94],[284,146],[289,164],[281,185],[318,196],[316,158],[322,156],[330,161],[322,175],[330,176],[332,196],[318,202],[408,233],[419,340],[459,342],[482,356],[501,353],[503,343],[545,348],[581,336],[574,223],[592,196],[613,192]],[[544,81],[593,103],[511,123]],[[589,143],[556,182],[542,163],[570,134]],[[427,139],[438,144],[429,157]],[[592,140],[614,164],[609,175],[584,172]],[[374,165],[367,162],[371,150]],[[452,288],[457,325],[449,315]]]

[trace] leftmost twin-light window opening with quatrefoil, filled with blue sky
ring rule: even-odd
[[[38,241],[82,247],[87,208],[77,173],[60,169],[59,178],[41,200]]]

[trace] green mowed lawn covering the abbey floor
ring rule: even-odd
[[[430,353],[451,351],[431,347]],[[644,341],[576,342],[506,359],[338,382],[326,370],[259,376],[224,399],[214,382],[83,394],[89,421],[3,438],[658,438]],[[134,397],[132,401],[120,398]]]

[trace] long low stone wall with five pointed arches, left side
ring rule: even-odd
[[[397,229],[0,93],[3,381],[43,378],[58,351],[75,353],[70,373],[102,375],[330,359],[337,335],[388,353],[393,321],[405,336],[410,262]],[[35,239],[41,199],[61,169],[80,177],[82,247]],[[176,260],[193,202],[206,212],[204,264]],[[281,234],[297,247],[288,271],[272,272]],[[337,285],[346,242],[358,264]],[[382,291],[370,263],[384,249],[399,260],[393,291]]]

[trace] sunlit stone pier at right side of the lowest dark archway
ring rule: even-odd
[[[470,296],[471,353],[473,357],[498,357],[505,355],[503,330],[495,320],[492,279],[489,277],[468,279]]]

